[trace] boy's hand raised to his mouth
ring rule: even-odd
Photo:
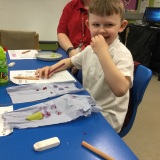
[[[102,35],[92,37],[91,47],[97,55],[99,55],[103,52],[106,52],[106,51],[108,52],[108,44],[106,43],[106,41]]]

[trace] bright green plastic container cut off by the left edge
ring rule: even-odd
[[[6,53],[4,49],[0,46],[0,86],[6,85],[8,83],[8,66]]]

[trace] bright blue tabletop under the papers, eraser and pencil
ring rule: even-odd
[[[63,55],[67,57],[66,55]],[[10,60],[8,60],[10,62]],[[37,69],[53,62],[39,60],[16,60],[16,65],[10,70]],[[0,87],[0,104],[9,104],[11,99],[6,87],[13,86],[9,82]],[[77,82],[77,85],[80,83]],[[79,94],[88,94],[83,91]],[[36,102],[15,104],[14,109],[33,105]],[[33,144],[51,137],[58,137],[61,144],[58,147],[42,152],[36,152]],[[1,160],[100,160],[101,157],[90,152],[81,142],[86,141],[116,160],[137,160],[138,158],[112,129],[101,113],[93,113],[90,117],[80,117],[74,121],[28,129],[14,129],[8,136],[0,137]]]

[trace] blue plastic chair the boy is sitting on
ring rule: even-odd
[[[131,130],[136,117],[138,106],[142,102],[144,93],[151,80],[151,77],[152,71],[150,69],[141,64],[136,67],[134,72],[133,87],[130,90],[128,112],[123,127],[119,133],[120,137],[124,137]]]

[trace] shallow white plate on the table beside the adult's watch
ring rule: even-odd
[[[35,54],[36,58],[39,60],[43,60],[43,61],[56,61],[56,60],[60,60],[62,58],[62,55],[59,53],[55,53],[55,52],[40,52]]]

